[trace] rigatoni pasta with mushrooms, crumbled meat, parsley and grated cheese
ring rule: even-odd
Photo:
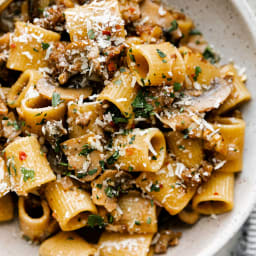
[[[40,256],[166,253],[232,210],[246,75],[183,10],[0,0],[0,33],[0,222]]]

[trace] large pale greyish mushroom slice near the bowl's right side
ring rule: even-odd
[[[187,106],[194,112],[203,113],[217,109],[228,98],[231,87],[223,79],[215,79],[209,90],[198,97],[189,97]],[[178,102],[179,104],[179,102]]]

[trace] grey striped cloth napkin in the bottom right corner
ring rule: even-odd
[[[242,228],[234,256],[256,256],[256,206]]]

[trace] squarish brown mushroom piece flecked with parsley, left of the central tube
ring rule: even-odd
[[[101,153],[103,148],[100,138],[99,135],[87,134],[61,144],[69,168],[75,170],[80,181],[92,181],[102,170],[101,161],[104,161],[104,154]]]

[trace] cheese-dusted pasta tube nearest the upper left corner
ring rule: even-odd
[[[6,66],[18,71],[45,68],[51,44],[59,40],[58,33],[18,21],[11,37],[12,47]]]

